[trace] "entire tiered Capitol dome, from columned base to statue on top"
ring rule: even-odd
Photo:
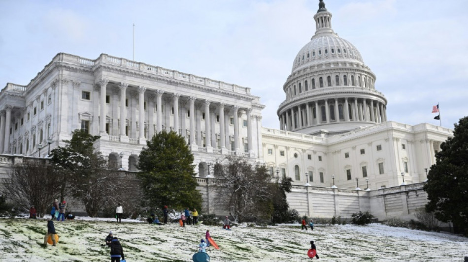
[[[315,34],[301,48],[283,85],[280,128],[333,135],[387,120],[385,96],[358,49],[332,29],[323,0],[314,15]]]

